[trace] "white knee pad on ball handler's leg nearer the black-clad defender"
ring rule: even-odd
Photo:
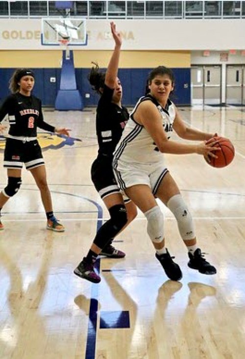
[[[152,242],[160,243],[163,240],[164,216],[158,205],[144,213],[147,217],[147,233]]]

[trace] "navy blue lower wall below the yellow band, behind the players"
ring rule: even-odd
[[[0,102],[9,94],[8,81],[14,70],[15,69],[0,69]],[[33,71],[36,79],[33,94],[42,100],[43,106],[54,107],[59,89],[61,69],[33,69]],[[139,97],[145,94],[146,79],[150,71],[150,68],[119,70],[119,77],[123,84],[124,105],[133,106]],[[87,79],[89,72],[90,69],[75,69],[77,88],[82,95],[84,106],[96,106],[98,103],[98,95],[91,89]],[[176,83],[173,97],[174,103],[178,105],[190,105],[191,69],[174,68],[173,73]],[[50,82],[50,77],[56,77],[56,82]],[[86,98],[85,94],[90,94],[90,98]]]

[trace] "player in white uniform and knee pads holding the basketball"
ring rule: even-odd
[[[179,281],[182,272],[165,247],[164,217],[156,198],[172,211],[177,220],[180,235],[188,249],[188,266],[203,274],[215,274],[216,268],[204,258],[197,246],[191,214],[165,166],[163,153],[196,153],[209,160],[209,156],[216,157],[212,152],[217,148],[212,146],[217,141],[206,144],[214,134],[189,128],[181,120],[169,99],[173,85],[174,77],[169,68],[159,66],[149,74],[149,93],[138,101],[130,115],[114,152],[113,168],[120,188],[147,218],[147,233],[155,247],[156,258],[166,275],[173,281]],[[183,139],[203,142],[182,144],[172,141],[173,130]]]

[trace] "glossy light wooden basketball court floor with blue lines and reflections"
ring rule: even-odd
[[[236,149],[223,169],[197,154],[166,155],[217,274],[188,268],[176,222],[161,205],[181,282],[168,280],[156,260],[141,212],[116,238],[126,257],[98,260],[99,284],[75,277],[73,269],[108,218],[90,180],[95,109],[46,109],[47,122],[72,129],[69,141],[39,134],[55,214],[66,231],[46,230],[39,191],[23,170],[21,190],[2,210],[1,359],[245,358],[245,107],[183,107],[180,113],[196,128],[229,137]],[[1,153],[3,147],[1,138]],[[0,184],[6,185],[5,170]]]

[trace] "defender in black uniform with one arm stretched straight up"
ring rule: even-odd
[[[113,151],[122,136],[129,114],[122,106],[123,89],[117,77],[122,38],[116,31],[115,24],[110,25],[115,49],[106,73],[99,72],[96,64],[89,75],[93,89],[100,95],[96,114],[98,156],[92,164],[91,178],[108,208],[110,219],[98,230],[87,256],[74,270],[77,276],[96,283],[100,282],[100,277],[94,271],[97,256],[99,254],[110,258],[125,256],[125,253],[115,249],[111,243],[113,238],[137,215],[136,206],[130,200],[124,204],[112,170]]]

